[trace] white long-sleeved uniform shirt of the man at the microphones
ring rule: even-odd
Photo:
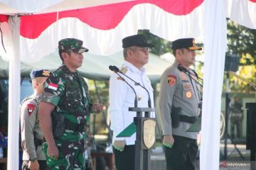
[[[145,69],[141,70],[134,67],[131,63],[125,61],[120,70],[127,77],[130,77],[134,81],[144,86],[150,94],[151,106],[154,107],[153,88],[151,82],[146,76]],[[148,94],[141,86],[136,86],[134,81],[128,79],[124,75],[120,74],[130,84],[137,94],[138,107],[148,107]],[[136,140],[136,133],[131,137],[117,137],[119,132],[122,132],[128,125],[134,121],[136,112],[128,111],[128,108],[134,107],[135,94],[132,88],[126,84],[121,77],[117,74],[112,74],[110,77],[110,128],[114,131],[114,140],[125,140],[126,145],[134,145]],[[150,114],[151,118],[154,118],[154,113]]]

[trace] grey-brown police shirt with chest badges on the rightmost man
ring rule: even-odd
[[[161,77],[159,94],[161,129],[163,135],[178,135],[196,139],[196,134],[186,132],[191,127],[191,123],[180,122],[178,128],[171,127],[172,106],[181,107],[181,115],[198,116],[198,103],[201,98],[201,87],[193,80],[196,77],[191,75],[193,79],[190,79],[187,74],[177,69],[178,64],[175,60],[174,64],[168,67]]]

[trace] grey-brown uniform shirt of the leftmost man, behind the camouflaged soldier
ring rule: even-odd
[[[34,135],[37,139],[43,140],[43,132],[39,127],[38,120],[38,103],[35,98],[39,96],[30,96],[25,98],[21,103],[21,147],[23,148],[23,160],[37,158],[38,160],[46,160],[42,146],[38,146],[37,150],[34,144]]]

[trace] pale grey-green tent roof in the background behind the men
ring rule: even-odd
[[[109,56],[93,55],[90,52],[83,54],[84,62],[82,63],[82,67],[78,69],[80,74],[87,79],[97,81],[109,80],[112,71],[108,67],[110,65],[121,67],[124,62],[122,51]],[[9,62],[2,60],[0,57],[0,63],[0,78],[7,78],[9,76]],[[32,69],[49,69],[50,71],[55,71],[55,69],[60,67],[61,63],[58,51],[43,57],[38,62],[21,62],[21,76],[29,77]],[[146,74],[149,76],[151,84],[155,85],[159,83],[161,74],[170,64],[171,62],[166,62],[166,60],[162,60],[154,54],[149,54],[149,63],[145,65],[145,69],[147,70]]]

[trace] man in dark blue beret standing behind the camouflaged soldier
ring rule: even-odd
[[[46,170],[46,156],[42,149],[43,132],[39,126],[38,110],[43,83],[50,76],[46,69],[30,74],[34,94],[21,103],[21,147],[23,149],[22,169]]]

